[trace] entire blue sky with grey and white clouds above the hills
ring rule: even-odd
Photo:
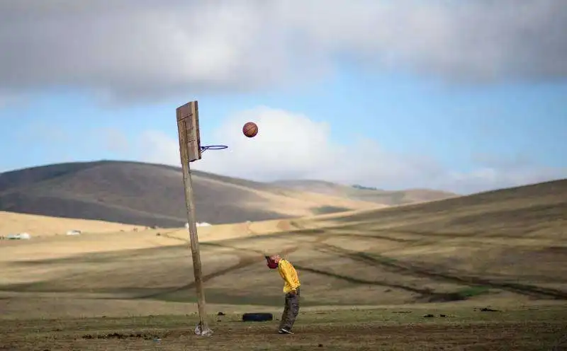
[[[567,2],[0,0],[0,172],[100,159],[461,194],[567,178]],[[259,134],[242,135],[245,122]]]

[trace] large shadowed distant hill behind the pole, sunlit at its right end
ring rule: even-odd
[[[198,221],[235,223],[375,207],[192,171]],[[0,173],[0,211],[146,226],[186,222],[181,168],[125,161],[62,163]]]

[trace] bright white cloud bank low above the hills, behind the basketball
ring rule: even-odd
[[[242,125],[248,121],[259,125],[257,137],[242,135]],[[213,133],[215,143],[227,144],[229,149],[205,151],[203,159],[191,166],[253,180],[319,179],[346,185],[435,188],[463,194],[567,177],[567,169],[488,156],[476,156],[479,165],[473,171],[456,172],[427,155],[398,154],[367,139],[337,143],[330,133],[327,123],[299,113],[253,108],[228,117]],[[137,156],[139,159],[179,165],[179,144],[174,137],[147,131],[138,142],[145,146]]]

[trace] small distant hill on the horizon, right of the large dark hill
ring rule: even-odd
[[[319,192],[320,194],[347,197],[351,200],[376,202],[388,206],[443,200],[458,196],[452,192],[442,190],[408,189],[388,191],[361,185],[340,185],[322,180],[279,180],[271,184],[298,191]]]

